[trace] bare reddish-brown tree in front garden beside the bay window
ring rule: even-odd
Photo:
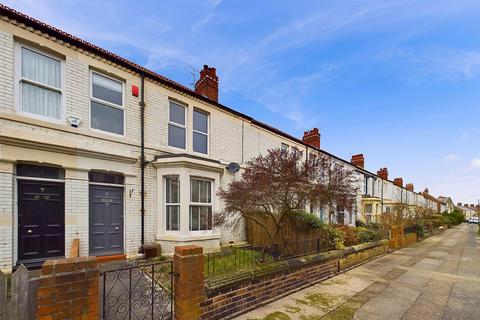
[[[330,157],[310,153],[304,159],[299,151],[268,150],[247,163],[241,179],[219,191],[225,208],[215,215],[215,224],[237,228],[250,220],[265,231],[270,244],[280,236],[287,245],[289,221],[310,205],[353,208],[355,186],[353,172]]]

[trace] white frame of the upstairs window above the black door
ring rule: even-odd
[[[60,89],[51,87],[49,85],[39,83],[33,80],[29,79],[24,79],[22,77],[22,48],[31,50],[33,52],[36,52],[38,54],[41,54],[43,56],[46,56],[48,58],[57,60],[60,62]],[[53,122],[57,124],[66,124],[66,107],[65,107],[65,61],[58,56],[52,55],[50,53],[47,53],[45,51],[39,50],[37,48],[34,48],[32,46],[23,44],[21,42],[15,42],[14,43],[14,103],[15,103],[15,111],[23,116],[27,116],[29,118],[34,118],[38,120],[43,120],[43,121],[48,121],[48,122]],[[55,118],[50,118],[50,117],[45,117],[41,116],[35,113],[30,113],[22,110],[22,89],[21,89],[21,82],[25,83],[30,83],[35,86],[60,92],[60,119],[55,119]]]

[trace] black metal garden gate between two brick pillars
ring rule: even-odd
[[[173,319],[172,267],[172,261],[151,260],[102,271],[102,319]]]

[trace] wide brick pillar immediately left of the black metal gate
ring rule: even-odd
[[[38,286],[37,319],[98,319],[95,257],[47,260]]]

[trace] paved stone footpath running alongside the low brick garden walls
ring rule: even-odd
[[[237,320],[480,319],[477,230],[446,230]]]

